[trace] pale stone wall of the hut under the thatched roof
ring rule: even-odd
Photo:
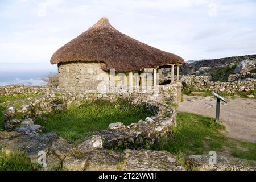
[[[58,64],[58,71],[61,91],[110,92],[110,72],[103,71],[100,63],[61,63]],[[134,84],[135,79],[134,76]],[[115,90],[122,89],[124,84],[129,85],[129,72],[115,72]]]

